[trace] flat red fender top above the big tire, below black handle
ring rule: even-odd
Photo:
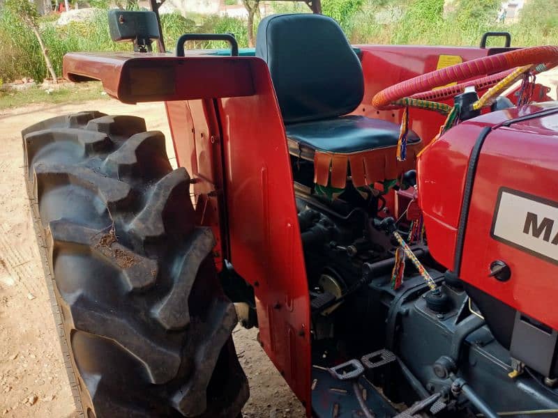
[[[227,98],[253,93],[249,58],[168,54],[66,54],[63,75],[98,79],[124,103]]]

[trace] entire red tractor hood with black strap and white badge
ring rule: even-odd
[[[419,158],[418,192],[437,261],[558,329],[558,102],[451,128]]]

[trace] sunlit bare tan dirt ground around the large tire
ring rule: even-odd
[[[165,134],[172,155],[163,104],[98,100],[36,104],[0,113],[0,417],[75,417],[24,192],[20,131],[45,118],[82,110],[144,117],[148,130]],[[236,351],[250,380],[244,417],[303,417],[301,404],[260,348],[256,334],[255,329],[234,330]]]

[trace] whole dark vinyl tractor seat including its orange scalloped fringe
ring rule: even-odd
[[[349,115],[361,104],[361,61],[340,26],[323,15],[271,15],[259,24],[256,56],[266,61],[289,152],[314,161],[315,183],[345,188],[398,178],[414,168],[421,141],[407,137],[407,160],[396,159],[399,126]]]

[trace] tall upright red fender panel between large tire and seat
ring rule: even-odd
[[[287,139],[266,64],[251,68],[255,95],[220,100],[232,264],[255,286],[264,350],[310,412],[310,300]]]

